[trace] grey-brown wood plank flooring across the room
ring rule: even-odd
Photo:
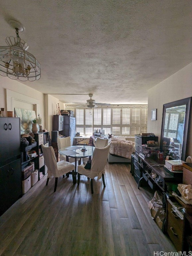
[[[106,164],[105,183],[47,175],[0,217],[2,256],[149,256],[176,252],[150,216],[149,187],[137,188],[130,164]]]

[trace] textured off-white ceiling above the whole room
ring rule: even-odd
[[[192,61],[190,0],[6,0],[0,3],[0,45],[20,34],[42,65],[41,78],[23,82],[64,103],[93,99],[145,104],[147,90]],[[7,78],[9,79],[9,78]]]

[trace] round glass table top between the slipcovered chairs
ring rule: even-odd
[[[78,149],[77,149],[77,147],[78,147]],[[86,151],[81,151],[82,149],[86,149]],[[66,155],[65,154],[66,150],[75,151],[77,154],[68,155],[68,156],[74,157],[74,158],[75,157],[84,158],[84,157],[92,156],[94,149],[95,149],[95,147],[92,147],[92,146],[71,146],[71,147],[61,148],[61,149],[59,149],[58,152],[61,155]]]

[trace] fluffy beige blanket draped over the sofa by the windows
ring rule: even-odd
[[[135,142],[110,138],[109,143],[111,144],[109,149],[110,154],[131,159]]]

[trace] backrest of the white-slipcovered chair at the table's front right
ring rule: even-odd
[[[110,145],[108,145],[105,148],[95,148],[94,149],[90,173],[97,174],[97,175],[95,175],[95,177],[101,176],[101,175],[99,175],[99,173],[100,174],[104,173],[105,164],[107,162],[107,157],[109,154],[109,148],[110,148]]]

